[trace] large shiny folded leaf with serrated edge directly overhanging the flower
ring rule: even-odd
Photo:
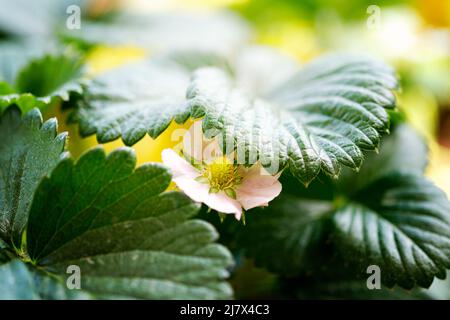
[[[305,185],[322,170],[337,177],[341,165],[358,169],[362,151],[376,149],[388,129],[385,108],[395,105],[392,71],[368,58],[321,58],[263,91],[240,80],[196,71],[187,93],[192,115],[204,116],[211,136],[220,133],[265,166],[289,167]]]

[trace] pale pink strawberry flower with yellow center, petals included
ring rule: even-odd
[[[171,169],[173,181],[188,197],[240,220],[243,209],[267,206],[280,194],[278,175],[270,175],[260,162],[251,167],[236,165],[234,155],[222,155],[217,140],[208,143],[203,135],[200,143],[193,145],[192,137],[198,134],[192,132],[198,129],[201,122],[194,123],[184,138],[183,154],[189,161],[172,149],[162,151],[163,163]],[[200,155],[203,159],[196,165]]]

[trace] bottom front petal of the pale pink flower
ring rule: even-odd
[[[210,193],[208,184],[186,176],[180,176],[173,181],[192,200],[202,202],[219,212],[234,214],[238,220],[241,218],[241,205],[238,201],[228,197],[223,191]]]

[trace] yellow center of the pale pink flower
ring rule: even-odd
[[[242,180],[237,166],[225,156],[219,157],[205,166],[203,177],[208,179],[212,192],[233,189]]]

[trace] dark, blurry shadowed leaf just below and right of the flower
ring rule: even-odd
[[[239,243],[257,265],[284,276],[321,272],[327,265],[316,261],[324,255],[331,210],[327,201],[281,195],[269,208],[247,215]]]

